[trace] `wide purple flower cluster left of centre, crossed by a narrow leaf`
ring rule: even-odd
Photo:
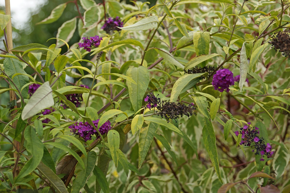
[[[98,127],[99,119],[93,121],[93,124],[95,127]],[[70,131],[73,132],[76,135],[79,135],[79,137],[82,137],[85,141],[91,140],[92,135],[96,135],[97,139],[100,138],[98,132],[91,126],[88,122],[76,122],[69,126]],[[104,135],[108,133],[108,131],[111,129],[111,123],[110,121],[106,121],[102,126],[99,128],[99,132],[101,135]]]

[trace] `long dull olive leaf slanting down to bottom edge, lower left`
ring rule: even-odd
[[[58,193],[68,193],[64,182],[50,168],[44,165],[44,163],[40,162],[37,166],[37,170],[49,181],[50,185],[52,185]]]

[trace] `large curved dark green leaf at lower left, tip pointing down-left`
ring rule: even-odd
[[[31,126],[26,127],[24,131],[24,138],[26,140],[26,150],[30,152],[32,157],[20,170],[15,182],[21,181],[21,179],[35,170],[40,163],[43,156],[43,144],[37,137],[35,130],[32,130]]]

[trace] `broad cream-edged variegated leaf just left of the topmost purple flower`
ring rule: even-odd
[[[88,28],[97,24],[104,17],[103,5],[95,5],[84,12],[84,27]]]

